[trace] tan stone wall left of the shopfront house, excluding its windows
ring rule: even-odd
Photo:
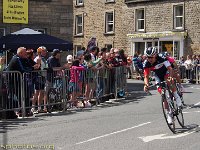
[[[75,0],[74,0],[75,4]],[[124,0],[116,0],[115,3],[105,3],[104,0],[87,0],[83,7],[74,5],[74,15],[85,12],[84,36],[74,37],[74,45],[87,46],[89,39],[95,36],[99,47],[112,44],[117,48],[126,48],[126,32],[124,28],[123,9]],[[114,10],[115,32],[105,35],[105,12]]]

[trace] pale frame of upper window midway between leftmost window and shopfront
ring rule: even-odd
[[[108,23],[108,14],[113,14],[113,20],[112,23]],[[114,34],[115,33],[115,11],[114,10],[110,10],[110,11],[106,11],[104,14],[104,33],[105,34]],[[113,30],[112,31],[108,31],[108,26],[111,25],[113,26]]]

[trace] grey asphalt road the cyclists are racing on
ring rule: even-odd
[[[156,90],[148,96],[142,91],[143,83],[135,80],[129,80],[128,87],[131,94],[126,100],[105,102],[91,109],[1,122],[0,149],[6,149],[3,144],[8,144],[7,149],[17,146],[25,149],[29,144],[29,149],[34,146],[40,150],[200,149],[199,85],[184,84],[187,91],[184,100],[188,105],[184,109],[186,128],[180,128],[178,134],[168,129]]]

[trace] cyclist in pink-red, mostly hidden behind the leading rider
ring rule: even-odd
[[[166,58],[170,62],[171,67],[174,71],[173,77],[179,83],[178,86],[179,86],[180,91],[185,92],[185,89],[184,89],[183,85],[181,84],[181,77],[180,77],[180,73],[179,73],[179,68],[178,68],[178,65],[177,65],[175,59],[173,57],[171,57],[168,52],[160,53],[159,56],[161,56],[162,58]]]

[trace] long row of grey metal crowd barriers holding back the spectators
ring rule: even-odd
[[[22,117],[30,110],[65,111],[73,105],[79,107],[79,102],[86,107],[93,99],[100,103],[110,95],[117,98],[126,93],[125,66],[100,70],[47,69],[23,74],[4,71],[0,72],[0,79],[0,113],[12,110],[21,112]]]

